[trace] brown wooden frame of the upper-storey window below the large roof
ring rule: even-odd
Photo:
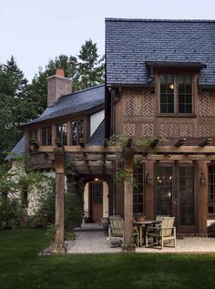
[[[161,81],[160,81],[160,76],[161,75],[172,75],[174,77],[174,112],[161,112],[160,110],[160,96],[161,96],[161,91],[160,91],[160,85],[161,85]],[[186,75],[189,74],[191,77],[191,112],[179,112],[179,75]],[[190,117],[190,116],[195,116],[195,98],[194,98],[194,72],[193,71],[189,71],[189,70],[179,70],[179,71],[175,71],[172,69],[160,69],[159,71],[157,71],[157,83],[158,83],[158,112],[159,112],[159,116],[178,116],[178,117]]]

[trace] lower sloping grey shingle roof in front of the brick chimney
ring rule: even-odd
[[[105,102],[105,86],[99,85],[92,88],[79,90],[72,94],[62,96],[54,106],[46,108],[42,115],[35,120],[23,124],[33,124],[48,119],[67,116],[95,108]]]

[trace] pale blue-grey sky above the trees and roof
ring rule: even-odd
[[[215,19],[214,0],[0,0],[0,64],[15,57],[26,78],[87,39],[105,53],[105,18]]]

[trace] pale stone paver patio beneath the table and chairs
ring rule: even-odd
[[[120,247],[109,248],[104,232],[77,232],[76,241],[67,242],[67,253],[120,253]],[[215,238],[184,238],[176,248],[137,248],[137,253],[215,253]]]

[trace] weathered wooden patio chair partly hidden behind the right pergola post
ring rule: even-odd
[[[109,226],[108,226],[108,240],[109,247],[111,248],[111,238],[120,238],[122,242],[124,241],[124,221],[119,215],[109,216]],[[138,228],[133,227],[133,236],[137,238],[138,241]]]

